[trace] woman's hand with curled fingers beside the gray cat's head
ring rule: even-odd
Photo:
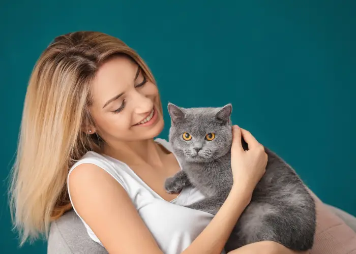
[[[252,134],[238,125],[232,126],[231,169],[233,185],[243,188],[252,195],[258,181],[265,172],[268,155],[264,147],[257,142]],[[248,144],[245,151],[241,144],[241,136]]]

